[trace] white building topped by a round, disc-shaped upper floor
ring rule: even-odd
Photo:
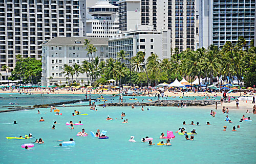
[[[88,7],[90,18],[86,20],[86,36],[109,38],[115,35],[118,31],[117,13],[118,7],[105,0]]]

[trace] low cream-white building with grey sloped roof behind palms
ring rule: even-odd
[[[89,56],[84,47],[84,39],[89,39],[97,51],[93,53],[93,58],[99,57],[100,61],[104,61],[108,58],[108,40],[109,38],[84,38],[84,37],[55,37],[45,43],[42,43],[42,77],[41,85],[65,85],[66,77],[63,72],[63,65],[68,64],[73,66],[74,64],[81,65],[82,61],[87,60],[89,62]],[[90,55],[91,59],[91,55]],[[92,60],[92,59],[91,59]],[[53,77],[50,81],[49,77]],[[88,78],[86,73],[77,75],[77,83],[87,84]],[[72,78],[70,76],[70,82]],[[73,77],[75,80],[75,75]],[[72,83],[72,82],[71,82]]]

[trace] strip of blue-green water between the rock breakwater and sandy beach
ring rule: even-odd
[[[106,103],[108,102],[117,102],[119,97],[112,97],[111,95],[103,95],[104,99],[97,99],[100,97],[100,95],[92,95],[91,98],[99,100],[96,104],[103,103],[103,100],[106,100]],[[148,97],[148,96],[124,96],[123,97],[126,102],[150,102],[150,99],[155,101],[157,100],[157,97]],[[136,98],[136,100],[130,98]],[[203,100],[205,97],[200,96],[190,96],[190,94],[185,94],[185,97],[164,97],[164,100]],[[49,104],[49,103],[55,103],[55,102],[65,102],[65,101],[71,101],[71,100],[80,100],[80,99],[86,99],[86,96],[84,94],[22,94],[19,95],[17,93],[12,94],[0,94],[0,110],[7,110],[7,108],[3,108],[2,106],[33,106],[35,104]],[[89,99],[89,95],[88,95]],[[212,99],[220,99],[220,97],[212,97]],[[212,100],[211,99],[211,100]],[[209,99],[206,99],[209,100]],[[11,105],[9,104],[17,103],[18,105]],[[88,105],[89,102],[81,102],[81,105]]]

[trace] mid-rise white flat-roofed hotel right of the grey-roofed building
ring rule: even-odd
[[[140,27],[139,27],[140,28]],[[109,40],[109,58],[117,59],[117,53],[124,50],[128,55],[124,61],[129,67],[129,60],[136,56],[139,51],[145,52],[145,60],[156,53],[159,59],[170,58],[170,31],[155,31],[153,26],[148,26],[149,30],[123,32],[110,38]]]

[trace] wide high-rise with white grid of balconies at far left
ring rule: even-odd
[[[85,0],[0,0],[0,67],[8,65],[9,76],[16,54],[39,59],[45,40],[82,36],[84,9]]]

